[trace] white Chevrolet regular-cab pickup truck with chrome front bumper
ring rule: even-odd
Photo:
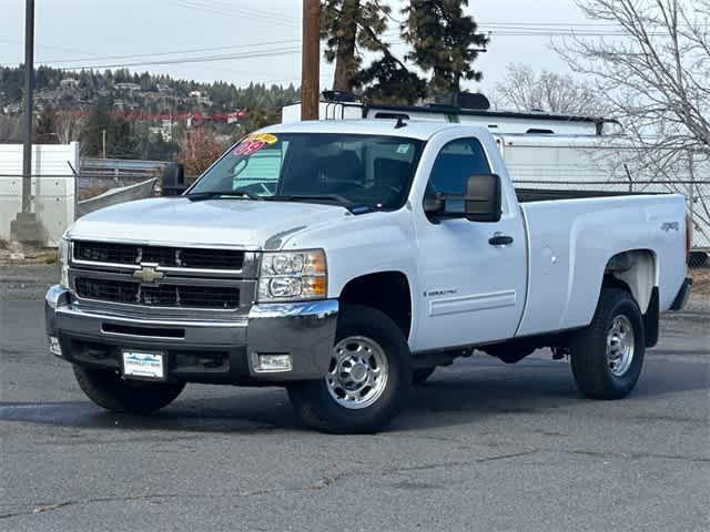
[[[684,304],[689,238],[682,196],[514,190],[483,127],[277,125],[182,196],[79,219],[47,332],[119,412],[186,382],[276,385],[311,427],[372,432],[437,366],[542,347],[617,399]]]

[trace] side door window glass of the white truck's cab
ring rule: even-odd
[[[464,195],[468,177],[489,173],[490,165],[484,147],[477,139],[452,141],[442,149],[434,162],[426,193],[443,192],[444,194]]]

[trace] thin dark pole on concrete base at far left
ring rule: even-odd
[[[24,142],[22,145],[22,209],[10,223],[12,239],[42,239],[37,213],[32,213],[32,89],[34,85],[34,0],[24,2]]]

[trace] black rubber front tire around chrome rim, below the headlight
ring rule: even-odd
[[[362,305],[348,305],[338,317],[335,345],[349,337],[365,337],[382,347],[388,366],[386,385],[369,406],[349,409],[328,391],[326,379],[294,382],[288,396],[298,417],[310,427],[329,433],[373,433],[384,429],[406,405],[412,390],[412,359],[407,341],[385,314]]]

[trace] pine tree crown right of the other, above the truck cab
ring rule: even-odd
[[[477,33],[473,17],[464,14],[467,6],[468,0],[410,0],[402,10],[406,17],[402,35],[412,45],[405,59],[432,72],[430,94],[453,93],[455,104],[462,79],[481,79],[471,63],[488,42]]]

